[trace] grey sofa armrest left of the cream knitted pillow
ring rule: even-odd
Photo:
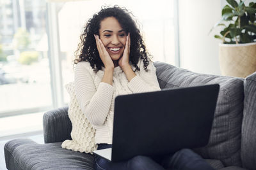
[[[72,124],[68,118],[68,107],[48,111],[43,117],[44,142],[55,143],[71,139]]]

